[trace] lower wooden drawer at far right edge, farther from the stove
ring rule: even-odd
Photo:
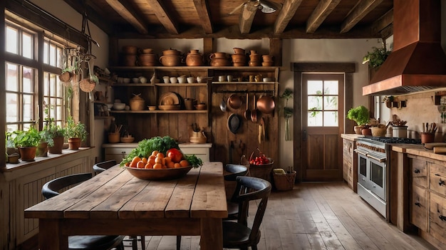
[[[446,198],[430,194],[430,234],[446,244]]]

